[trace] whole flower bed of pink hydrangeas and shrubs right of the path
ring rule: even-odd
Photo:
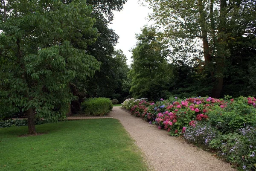
[[[131,105],[133,105],[131,107]],[[123,107],[172,136],[216,151],[239,170],[256,171],[256,99],[127,99]]]

